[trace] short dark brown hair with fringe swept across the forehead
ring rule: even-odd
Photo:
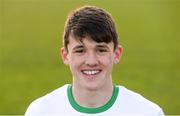
[[[114,43],[114,50],[118,46],[118,34],[111,15],[96,6],[83,6],[74,10],[67,18],[63,44],[68,51],[69,36],[83,41],[85,37],[100,43]]]

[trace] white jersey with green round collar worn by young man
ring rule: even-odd
[[[76,103],[72,86],[64,85],[33,101],[25,116],[119,116],[119,115],[164,115],[162,109],[141,95],[123,86],[114,86],[113,95],[105,105],[85,108]]]

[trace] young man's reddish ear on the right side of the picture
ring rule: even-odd
[[[114,52],[114,64],[117,64],[122,56],[123,48],[122,46],[118,46]]]

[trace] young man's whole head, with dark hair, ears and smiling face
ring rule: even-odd
[[[88,89],[111,85],[113,64],[119,61],[121,53],[109,13],[84,6],[68,16],[61,55],[70,67],[74,85]]]

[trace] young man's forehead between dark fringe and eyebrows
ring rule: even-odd
[[[110,43],[105,43],[105,42],[96,42],[91,38],[83,38],[82,42],[79,39],[73,38],[72,36],[69,37],[69,44],[68,44],[68,48],[73,49],[76,46],[85,46],[88,48],[94,48],[97,46],[104,46],[104,47],[108,47],[109,49],[113,48],[113,42]]]

